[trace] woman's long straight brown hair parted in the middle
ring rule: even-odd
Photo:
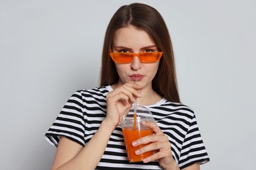
[[[161,14],[153,7],[142,3],[132,3],[120,7],[110,20],[102,51],[100,86],[116,84],[119,80],[115,63],[110,58],[110,48],[113,44],[115,31],[128,25],[146,31],[156,43],[156,46],[163,52],[158,72],[152,80],[153,90],[169,101],[180,103],[169,31]]]

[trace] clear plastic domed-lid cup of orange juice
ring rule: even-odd
[[[136,114],[135,114],[136,112]],[[123,131],[123,137],[125,139],[125,146],[127,150],[127,155],[129,162],[142,161],[144,158],[151,156],[153,151],[145,152],[143,154],[135,154],[135,150],[138,150],[150,143],[141,144],[139,146],[133,146],[133,141],[140,139],[141,137],[152,135],[153,130],[147,126],[142,125],[142,122],[154,122],[154,118],[150,110],[141,105],[132,107],[129,113],[123,117],[121,121],[121,128]]]

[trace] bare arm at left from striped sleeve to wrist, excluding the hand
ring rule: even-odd
[[[89,143],[83,147],[66,137],[61,137],[53,162],[53,169],[95,169],[102,158],[113,126],[103,121]]]

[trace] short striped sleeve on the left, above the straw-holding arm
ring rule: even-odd
[[[85,146],[84,134],[83,99],[77,91],[68,99],[53,125],[45,133],[45,139],[57,147],[60,137],[63,136]]]

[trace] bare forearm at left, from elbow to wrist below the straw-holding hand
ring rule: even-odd
[[[108,126],[107,122],[103,121],[89,143],[72,160],[58,167],[58,170],[95,169],[104,154],[113,130],[113,127]]]

